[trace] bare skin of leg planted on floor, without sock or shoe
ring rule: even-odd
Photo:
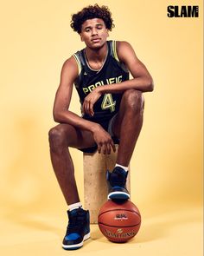
[[[94,144],[91,132],[80,131],[69,124],[59,124],[49,131],[51,161],[67,205],[80,201],[68,147],[89,148]]]

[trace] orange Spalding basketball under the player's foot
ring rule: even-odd
[[[98,224],[108,240],[125,242],[139,231],[141,215],[131,200],[108,200],[99,210]]]

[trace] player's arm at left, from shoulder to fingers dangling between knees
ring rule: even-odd
[[[111,147],[115,151],[115,145],[112,137],[104,128],[98,123],[87,121],[68,110],[73,92],[73,82],[78,76],[78,72],[77,63],[72,56],[63,64],[61,69],[61,82],[54,100],[54,121],[67,123],[73,125],[73,127],[92,132],[93,138],[98,145],[99,153],[101,150],[106,152],[107,148],[107,152],[110,154]]]

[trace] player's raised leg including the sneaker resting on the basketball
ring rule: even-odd
[[[117,165],[112,173],[107,172],[108,199],[128,200],[130,194],[125,187],[128,165],[143,125],[143,95],[129,89],[124,92],[118,115],[112,123],[112,133],[120,139]]]

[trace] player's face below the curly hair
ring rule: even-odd
[[[91,49],[104,45],[108,37],[108,30],[102,19],[93,18],[86,20],[81,26],[80,38]]]

